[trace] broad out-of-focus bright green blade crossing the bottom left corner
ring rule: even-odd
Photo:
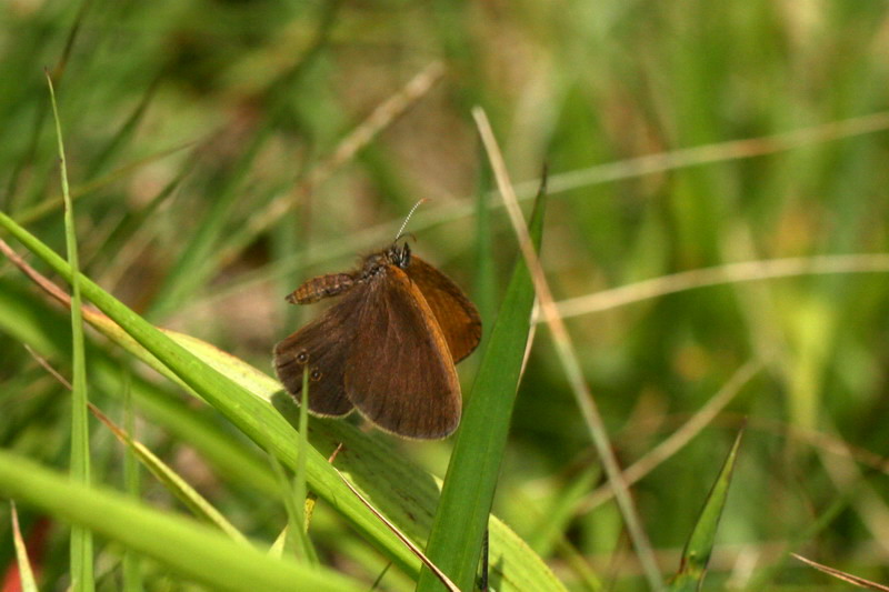
[[[270,558],[209,526],[73,483],[6,451],[0,451],[0,492],[119,541],[213,590],[364,590],[332,570]]]

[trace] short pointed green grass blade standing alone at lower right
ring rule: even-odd
[[[707,496],[707,502],[703,505],[703,510],[701,510],[698,522],[695,524],[695,530],[686,543],[685,551],[682,551],[679,571],[670,582],[670,592],[692,592],[700,590],[701,585],[703,585],[707,563],[710,561],[719,519],[722,515],[726,498],[729,494],[731,473],[738,459],[742,435],[743,432],[740,432],[735,439],[735,444],[722,464],[722,470],[719,472],[719,476]]]

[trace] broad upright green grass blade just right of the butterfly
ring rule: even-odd
[[[546,195],[541,193],[531,217],[530,233],[537,249],[542,237],[545,203]],[[471,590],[476,579],[533,301],[530,273],[525,261],[519,260],[467,402],[426,550],[429,559],[460,590]],[[497,582],[493,586],[500,589]],[[443,586],[430,571],[423,570],[417,590],[443,590]]]

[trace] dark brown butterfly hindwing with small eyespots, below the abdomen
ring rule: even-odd
[[[346,397],[343,373],[349,343],[354,334],[360,290],[352,290],[320,318],[274,347],[278,379],[297,401],[302,372],[309,364],[309,411],[318,415],[348,415],[353,405]]]

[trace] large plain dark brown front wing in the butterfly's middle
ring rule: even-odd
[[[423,294],[396,265],[367,284],[347,359],[346,394],[379,428],[444,438],[460,422],[460,383]]]

